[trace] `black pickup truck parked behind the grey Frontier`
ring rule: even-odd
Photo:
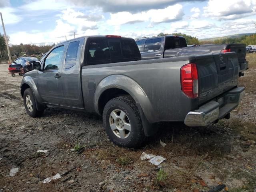
[[[137,40],[136,44],[140,49],[142,60],[194,54],[236,52],[240,66],[239,76],[243,76],[242,72],[248,69],[248,62],[246,62],[245,58],[245,44],[208,44],[188,47],[184,37],[174,35],[145,38]]]

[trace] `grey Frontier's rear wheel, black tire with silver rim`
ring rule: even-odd
[[[136,148],[145,139],[140,113],[130,96],[110,100],[103,110],[103,126],[118,146]]]

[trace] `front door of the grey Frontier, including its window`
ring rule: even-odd
[[[38,71],[38,88],[43,102],[64,105],[62,90],[62,62],[65,45],[54,48],[44,60],[44,68]]]

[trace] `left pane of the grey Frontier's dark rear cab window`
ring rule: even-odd
[[[110,63],[110,50],[106,39],[92,39],[87,52],[88,64]]]

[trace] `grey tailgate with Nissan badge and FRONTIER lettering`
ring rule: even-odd
[[[234,52],[196,56],[199,104],[237,86],[239,64]]]

